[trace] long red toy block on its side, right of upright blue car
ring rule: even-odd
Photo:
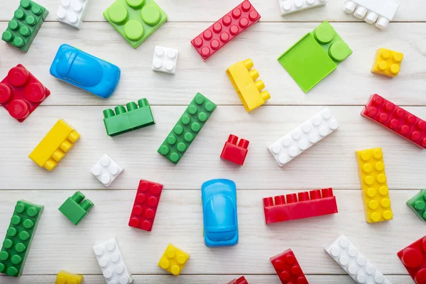
[[[297,200],[297,196],[299,200]],[[275,200],[275,204],[274,204]],[[287,200],[287,203],[285,202]],[[332,188],[263,198],[266,224],[337,213]]]

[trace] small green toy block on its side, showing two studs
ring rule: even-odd
[[[84,195],[82,192],[76,191],[72,197],[68,197],[59,207],[59,211],[76,226],[93,207],[93,203],[90,200],[83,200]]]

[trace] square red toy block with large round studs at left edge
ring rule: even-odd
[[[19,122],[24,121],[49,94],[50,91],[21,64],[9,70],[0,82],[0,104]]]

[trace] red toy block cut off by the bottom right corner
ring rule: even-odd
[[[426,236],[398,251],[397,254],[414,282],[426,284]]]

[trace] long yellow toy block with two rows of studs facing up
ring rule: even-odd
[[[393,214],[381,148],[355,151],[355,153],[366,222],[391,220]]]

